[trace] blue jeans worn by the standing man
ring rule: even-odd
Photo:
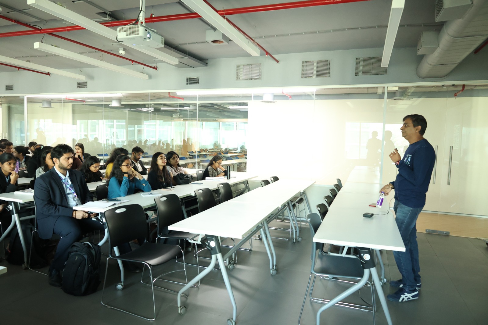
[[[419,246],[417,244],[417,218],[424,207],[411,208],[395,200],[395,222],[402,236],[405,252],[393,251],[398,270],[402,274],[404,287],[415,290],[420,283]]]

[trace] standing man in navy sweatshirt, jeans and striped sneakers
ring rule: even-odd
[[[395,189],[393,210],[405,245],[405,252],[393,252],[402,279],[390,281],[391,286],[399,289],[387,296],[388,300],[399,303],[417,299],[421,287],[416,223],[426,203],[428,184],[435,163],[434,148],[424,139],[426,129],[427,121],[422,115],[407,115],[403,119],[400,130],[402,137],[410,145],[403,159],[396,148],[390,153],[389,157],[396,164],[398,174],[395,182],[386,184],[380,190],[388,195]]]

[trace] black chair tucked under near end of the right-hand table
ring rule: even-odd
[[[312,238],[315,236],[315,233],[319,229],[322,220],[321,217],[317,213],[310,213],[308,216],[308,223],[310,225],[310,234]],[[361,260],[354,255],[328,255],[328,254],[317,254],[317,251],[321,252],[324,249],[324,244],[322,243],[315,243],[312,241],[312,254],[310,259],[312,260],[312,264],[310,267],[310,277],[308,278],[308,284],[305,291],[304,302],[302,304],[302,309],[300,310],[300,317],[298,318],[298,324],[300,324],[300,320],[302,319],[302,313],[305,306],[305,301],[307,299],[307,295],[309,299],[313,302],[327,304],[330,300],[325,300],[322,298],[317,298],[312,296],[313,287],[315,285],[315,280],[317,275],[324,280],[331,280],[331,281],[339,281],[343,283],[349,284],[356,284],[353,281],[346,281],[346,280],[339,280],[338,278],[349,279],[349,280],[361,280],[364,275],[364,269],[361,265]],[[312,280],[313,275],[313,282]],[[310,282],[312,283],[310,287]],[[372,305],[355,305],[355,304],[347,304],[339,302],[336,305],[342,307],[348,307],[352,309],[362,309],[366,311],[373,312],[373,324],[374,324],[374,310],[375,310],[375,298],[374,298],[374,285],[368,281],[368,285],[371,288],[371,301]],[[309,289],[310,288],[310,292]],[[366,303],[367,304],[367,303]],[[365,309],[367,308],[367,309]]]

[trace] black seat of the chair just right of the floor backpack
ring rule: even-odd
[[[114,256],[115,259],[146,262],[150,265],[159,265],[168,262],[182,252],[178,245],[147,243],[131,252]]]

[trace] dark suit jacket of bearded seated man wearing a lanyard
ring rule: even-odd
[[[68,170],[68,173],[81,203],[93,201],[82,173],[78,170]],[[36,203],[39,236],[42,239],[52,237],[54,223],[58,218],[72,218],[73,216],[73,208],[68,206],[64,185],[55,167],[36,179],[34,202]]]

